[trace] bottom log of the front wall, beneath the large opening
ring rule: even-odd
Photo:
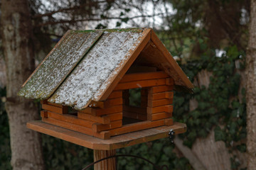
[[[154,122],[144,121],[144,122],[139,122],[139,123],[123,125],[122,128],[109,130],[109,132],[110,132],[111,136],[114,136],[114,135],[121,135],[121,134],[128,133],[128,132],[134,132],[134,131],[138,131],[138,130],[155,128],[155,127],[158,127],[161,125],[164,125],[164,120],[156,120]]]

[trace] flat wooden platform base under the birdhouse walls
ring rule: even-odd
[[[112,150],[122,147],[129,147],[143,142],[159,140],[168,137],[168,132],[172,129],[175,134],[186,132],[186,124],[174,123],[171,126],[162,126],[158,128],[151,128],[148,130],[140,130],[138,132],[129,132],[124,135],[117,135],[111,137],[110,140],[101,140],[90,135],[85,135],[80,132],[60,128],[55,125],[43,123],[41,120],[33,120],[27,123],[27,127],[31,130],[42,132],[46,135],[57,137],[61,140],[72,142],[76,145],[81,145],[90,149],[97,150]]]

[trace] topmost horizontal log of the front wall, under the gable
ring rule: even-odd
[[[169,77],[165,72],[144,72],[144,73],[133,73],[124,74],[124,77],[119,81],[119,83],[129,82],[129,81],[140,81],[148,79],[163,79]]]

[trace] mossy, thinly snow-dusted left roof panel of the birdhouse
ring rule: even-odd
[[[102,31],[66,35],[19,91],[19,95],[41,99],[50,97],[100,35]]]

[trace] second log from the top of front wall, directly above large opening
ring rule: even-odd
[[[135,89],[149,86],[161,86],[166,84],[166,79],[150,79],[150,80],[142,80],[142,81],[130,81],[117,84],[114,88],[116,90],[125,90],[125,89]]]

